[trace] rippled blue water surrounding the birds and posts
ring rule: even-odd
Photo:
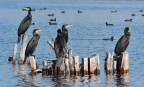
[[[42,77],[41,74],[29,76],[30,68],[24,66],[13,66],[7,61],[12,56],[13,45],[17,42],[17,29],[21,20],[27,15],[22,11],[23,7],[30,6],[36,11],[32,12],[33,20],[36,25],[31,25],[27,31],[30,39],[32,31],[35,28],[42,30],[41,38],[36,49],[35,55],[40,67],[43,59],[55,59],[54,51],[47,44],[48,39],[56,37],[57,29],[64,23],[72,24],[69,29],[68,49],[72,48],[74,55],[81,58],[89,57],[95,53],[100,55],[101,74],[99,76],[71,77],[71,79],[57,80],[52,76]],[[47,10],[39,10],[47,8]],[[143,67],[144,67],[144,17],[143,1],[94,1],[94,0],[1,0],[0,3],[0,86],[143,86]],[[82,10],[78,14],[77,10]],[[66,13],[62,14],[61,11]],[[117,13],[111,13],[112,10],[118,10]],[[54,13],[54,17],[48,17],[47,14]],[[136,16],[132,17],[131,14]],[[57,18],[58,25],[49,25],[51,18]],[[132,18],[133,22],[125,22],[125,19]],[[105,22],[113,23],[115,26],[107,27]],[[113,51],[116,42],[123,35],[125,27],[131,27],[131,40],[127,52],[130,56],[130,74],[124,77],[109,76],[106,77],[104,71],[104,59],[106,51]],[[104,41],[104,38],[115,36],[114,41]],[[18,55],[20,44],[18,45]]]

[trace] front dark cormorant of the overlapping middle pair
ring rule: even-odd
[[[56,58],[64,57],[66,54],[66,41],[62,36],[62,31],[60,29],[57,30],[57,37],[54,41],[54,50]]]

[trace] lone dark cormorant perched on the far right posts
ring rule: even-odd
[[[130,36],[131,36],[129,29],[130,29],[129,27],[126,27],[124,29],[124,35],[119,39],[119,41],[115,46],[114,51],[118,56],[121,55],[121,53],[124,52],[129,45]]]

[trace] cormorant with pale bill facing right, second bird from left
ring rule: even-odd
[[[35,49],[36,49],[36,47],[38,45],[38,41],[39,41],[39,38],[40,38],[40,35],[38,34],[40,31],[41,31],[40,29],[33,30],[33,37],[29,41],[29,43],[28,43],[28,45],[26,47],[26,50],[25,50],[25,59],[24,59],[23,64],[25,63],[26,58],[29,55],[32,55],[35,52]]]

